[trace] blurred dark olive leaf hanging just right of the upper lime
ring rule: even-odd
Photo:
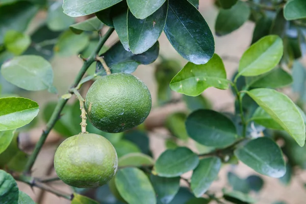
[[[157,97],[159,105],[166,104],[172,99],[169,84],[180,69],[181,65],[176,60],[163,60],[160,64],[156,65],[155,79],[158,86]]]

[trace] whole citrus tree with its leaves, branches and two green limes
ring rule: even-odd
[[[262,189],[259,174],[289,184],[296,170],[306,168],[306,71],[297,61],[305,52],[306,2],[215,2],[217,36],[230,34],[248,20],[256,24],[232,80],[223,57],[215,53],[214,36],[199,4],[198,0],[0,0],[0,203],[34,203],[16,181],[71,203],[255,203],[249,193]],[[29,32],[38,12],[47,16]],[[80,21],[80,16],[86,18]],[[114,31],[118,41],[108,47],[105,42]],[[167,116],[166,150],[154,160],[149,130],[141,125],[151,110],[151,95],[131,73],[159,57],[163,31],[188,63],[181,67],[161,57],[155,72],[158,105],[175,103],[175,91],[182,94],[179,100],[185,101],[188,111]],[[66,93],[41,111],[45,129],[28,155],[19,149],[18,135],[35,126],[40,109],[7,87],[57,94],[49,63],[54,55],[78,55],[83,66]],[[84,84],[91,86],[82,96]],[[294,101],[280,89],[290,84],[298,93]],[[201,95],[209,87],[232,89],[235,112],[212,110]],[[78,100],[67,104],[73,95]],[[34,177],[33,164],[51,130],[65,138],[54,157],[58,177]],[[195,141],[197,151],[185,145],[188,140]],[[239,162],[259,174],[242,179],[228,172],[231,188],[209,189],[221,167]],[[58,180],[71,186],[73,194],[48,186]],[[95,192],[91,198],[85,196],[89,191]]]

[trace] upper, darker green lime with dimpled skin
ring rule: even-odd
[[[149,115],[151,94],[132,74],[113,73],[89,88],[85,108],[91,123],[108,133],[119,133],[141,124]]]

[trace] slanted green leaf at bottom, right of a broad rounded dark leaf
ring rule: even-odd
[[[191,176],[191,190],[195,197],[201,197],[214,180],[221,168],[221,160],[217,157],[201,159]]]

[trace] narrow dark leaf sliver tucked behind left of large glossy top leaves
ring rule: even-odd
[[[117,6],[118,5],[118,6]],[[111,11],[113,24],[118,34],[119,40],[126,51],[131,51],[129,46],[129,39],[127,37],[127,12],[128,8],[126,2],[119,3],[114,6]]]

